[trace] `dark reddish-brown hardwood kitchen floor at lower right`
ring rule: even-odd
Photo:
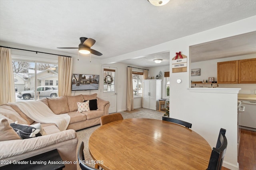
[[[256,132],[241,129],[238,154],[239,170],[256,170]],[[222,170],[229,170],[222,167]]]

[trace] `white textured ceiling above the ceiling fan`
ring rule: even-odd
[[[90,37],[106,59],[255,15],[255,0],[0,0],[0,41],[76,55],[56,47]]]

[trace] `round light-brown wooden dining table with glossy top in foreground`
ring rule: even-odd
[[[191,129],[137,118],[99,127],[90,136],[88,147],[104,170],[206,170],[212,151]]]

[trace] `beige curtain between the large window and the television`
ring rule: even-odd
[[[70,96],[72,90],[71,57],[58,56],[58,96]]]

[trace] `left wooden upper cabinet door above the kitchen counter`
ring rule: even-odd
[[[217,63],[218,83],[238,83],[238,61],[226,61]]]

